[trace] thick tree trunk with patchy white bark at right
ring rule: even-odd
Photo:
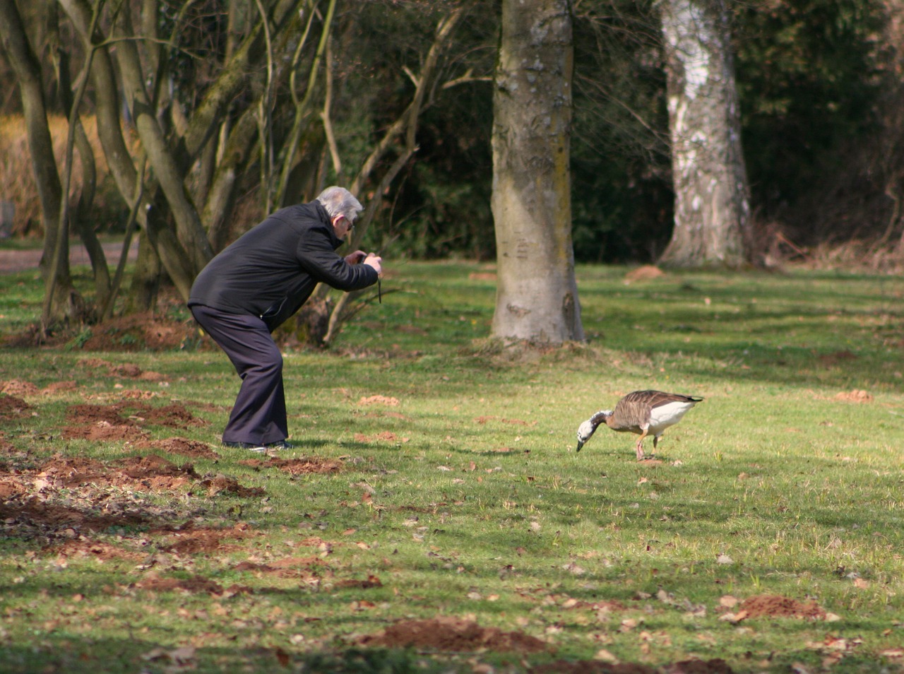
[[[724,0],[665,0],[669,132],[675,193],[661,262],[738,268],[750,205]]]

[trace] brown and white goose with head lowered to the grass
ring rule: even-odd
[[[589,441],[597,427],[605,423],[613,431],[640,435],[635,450],[637,460],[644,460],[644,438],[653,436],[653,448],[663,432],[682,420],[702,398],[695,395],[666,394],[663,391],[634,391],[616,403],[614,410],[602,410],[578,427],[578,449]]]

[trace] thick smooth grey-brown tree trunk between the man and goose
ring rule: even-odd
[[[583,340],[571,245],[571,6],[503,0],[493,99],[493,335]]]

